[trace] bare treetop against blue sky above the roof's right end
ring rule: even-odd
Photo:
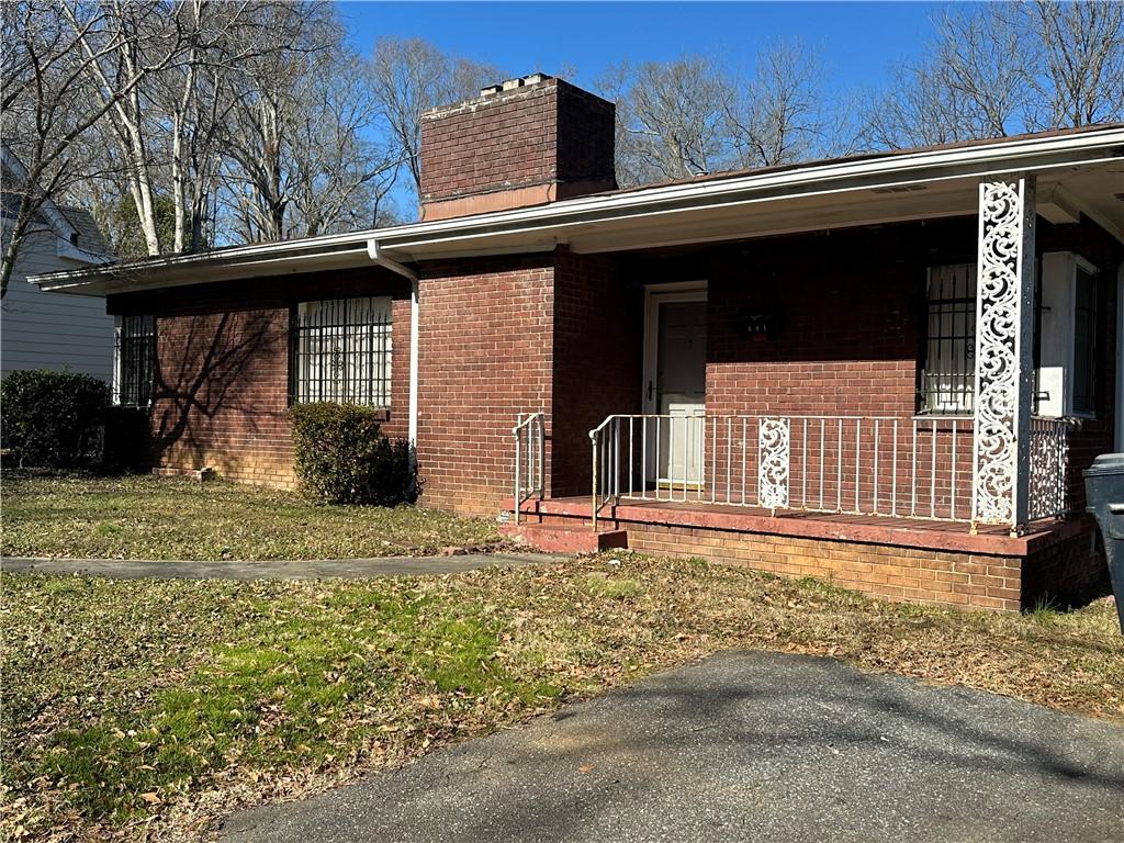
[[[1124,118],[1124,4],[955,7],[923,58],[868,103],[873,148],[1001,137]]]

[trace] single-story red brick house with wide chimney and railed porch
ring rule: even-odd
[[[423,502],[1017,609],[1103,577],[1124,126],[618,190],[550,76],[425,116],[422,220],[40,275],[100,296],[154,466],[293,482],[291,402],[415,445]]]

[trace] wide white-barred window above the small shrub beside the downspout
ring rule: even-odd
[[[390,407],[390,299],[302,301],[292,316],[292,400]]]

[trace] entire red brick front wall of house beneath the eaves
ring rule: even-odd
[[[1104,268],[1104,415],[1075,434],[1076,488],[1079,469],[1111,447],[1113,262],[1118,263],[1120,250],[1087,227],[1043,229],[1043,248],[1069,247],[1064,244],[1080,235],[1088,243],[1082,241],[1079,251]],[[709,413],[908,419],[925,266],[973,260],[975,236],[975,223],[968,219],[699,246],[678,254],[590,256],[559,250],[425,265],[418,442],[424,499],[457,511],[495,514],[510,495],[515,417],[537,409],[547,414],[553,492],[584,495],[588,430],[610,413],[638,410],[645,283],[709,280]],[[363,294],[395,298],[392,408],[386,430],[405,436],[409,284],[397,275],[372,268],[111,297],[110,312],[160,317],[154,413],[160,464],[210,465],[235,479],[290,483],[289,308],[302,298]],[[781,317],[776,337],[755,341],[738,334],[740,315],[764,311]],[[937,515],[944,514],[951,484],[946,433],[937,441]],[[830,430],[828,450],[832,435]],[[882,441],[888,436],[883,428]],[[924,435],[918,441],[921,511],[930,488],[930,443]],[[722,434],[719,454],[725,444]],[[966,487],[966,438],[959,447],[958,480]],[[883,474],[887,451],[879,466]],[[796,450],[792,459],[798,460]],[[872,460],[867,451],[858,464],[845,464],[845,499],[853,497],[855,473],[860,496],[871,497]],[[740,461],[734,456],[732,463]],[[719,463],[711,477],[724,486],[722,470]],[[905,470],[899,465],[899,472]],[[755,479],[754,465],[746,475]],[[731,481],[740,486],[736,477]],[[828,498],[831,482],[828,477]],[[797,474],[792,483],[794,489],[799,486]],[[881,495],[886,501],[886,491]],[[899,513],[905,502],[899,497]]]

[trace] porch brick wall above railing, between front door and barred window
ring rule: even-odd
[[[709,411],[913,414],[926,257],[912,226],[878,235],[786,237],[715,262]],[[756,314],[779,318],[774,336],[738,332]]]

